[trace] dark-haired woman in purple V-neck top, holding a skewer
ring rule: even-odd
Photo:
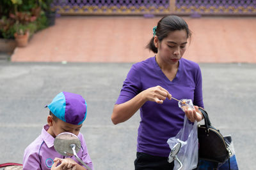
[[[202,115],[198,106],[204,108],[200,67],[182,58],[191,38],[186,22],[173,15],[163,17],[153,35],[147,48],[156,55],[131,67],[111,116],[113,124],[119,124],[140,109],[136,170],[172,169],[166,141],[182,128],[185,114],[191,122],[200,121],[195,110]],[[195,110],[184,113],[172,96],[192,99]]]

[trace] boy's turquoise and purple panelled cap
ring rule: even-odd
[[[83,124],[87,114],[87,104],[82,96],[70,92],[61,92],[47,106],[60,120],[69,124]]]

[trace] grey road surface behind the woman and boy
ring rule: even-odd
[[[138,113],[113,125],[111,113],[131,63],[12,63],[0,60],[0,163],[22,163],[41,132],[45,104],[61,91],[88,103],[84,134],[95,169],[134,169]],[[231,134],[239,169],[255,169],[256,64],[200,64],[205,109],[223,135]]]

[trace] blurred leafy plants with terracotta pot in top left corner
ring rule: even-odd
[[[48,26],[42,3],[45,0],[0,0],[0,52],[12,53],[16,41],[25,46],[36,31]]]

